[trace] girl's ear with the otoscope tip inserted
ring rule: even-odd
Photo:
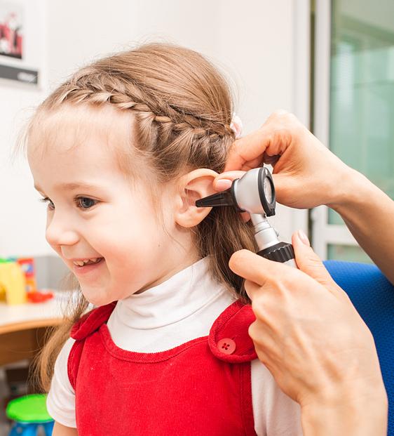
[[[218,173],[200,168],[185,174],[179,179],[175,222],[182,227],[194,227],[210,213],[212,207],[197,207],[196,201],[216,194],[213,181]]]

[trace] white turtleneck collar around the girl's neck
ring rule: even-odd
[[[210,277],[208,263],[206,256],[165,282],[119,300],[114,315],[133,329],[157,329],[189,317],[226,292]]]

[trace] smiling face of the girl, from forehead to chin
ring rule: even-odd
[[[46,117],[32,132],[27,155],[36,190],[47,202],[46,240],[86,299],[104,305],[164,282],[195,259],[172,239],[172,197],[163,197],[165,232],[144,185],[130,185],[119,170],[113,148],[130,138],[130,117],[97,110],[87,117],[83,110]],[[94,258],[102,260],[74,265]]]

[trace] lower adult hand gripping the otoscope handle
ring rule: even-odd
[[[294,234],[292,245],[299,270],[248,250],[229,261],[252,300],[257,355],[301,405],[305,435],[353,435],[362,417],[365,430],[355,434],[383,435],[387,396],[372,333],[306,236]]]

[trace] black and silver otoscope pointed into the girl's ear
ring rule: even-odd
[[[238,212],[250,213],[259,248],[257,254],[297,268],[292,244],[280,242],[278,232],[266,218],[275,215],[276,195],[272,175],[265,166],[247,171],[233,180],[228,190],[199,199],[196,206],[231,206]]]

